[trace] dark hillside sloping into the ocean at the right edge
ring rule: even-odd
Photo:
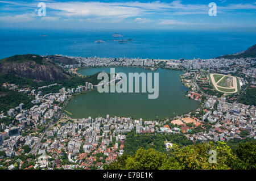
[[[251,57],[251,58],[256,57],[256,44],[253,45],[252,47],[248,48],[245,51],[242,51],[242,52],[239,52],[239,53],[234,53],[234,54],[226,54],[224,56],[217,57],[217,58],[232,59],[232,58],[247,58],[247,57]]]

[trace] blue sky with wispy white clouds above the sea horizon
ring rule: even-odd
[[[217,16],[208,15],[210,2]],[[255,31],[256,0],[0,1],[0,28]]]

